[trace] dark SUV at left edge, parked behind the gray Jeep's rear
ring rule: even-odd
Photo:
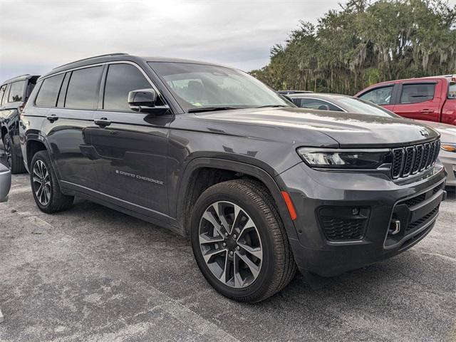
[[[19,144],[19,115],[39,76],[22,75],[0,84],[0,130],[12,173],[26,172]]]

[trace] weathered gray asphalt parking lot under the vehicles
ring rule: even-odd
[[[238,304],[182,237],[83,200],[43,214],[14,175],[0,204],[0,341],[456,341],[455,222],[452,192],[408,252]]]

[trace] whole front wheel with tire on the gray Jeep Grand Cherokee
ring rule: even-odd
[[[229,299],[263,301],[296,273],[284,224],[259,182],[230,180],[209,187],[195,203],[190,229],[199,269]]]

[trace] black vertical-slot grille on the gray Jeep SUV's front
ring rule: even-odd
[[[440,150],[440,141],[393,149],[393,179],[416,175],[434,165]]]

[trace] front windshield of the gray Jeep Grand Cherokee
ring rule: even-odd
[[[195,63],[150,62],[185,110],[292,106],[256,78],[236,69]]]

